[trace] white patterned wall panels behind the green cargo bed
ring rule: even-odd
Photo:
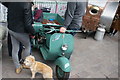
[[[67,8],[67,2],[62,2],[62,1],[40,2],[38,0],[34,0],[34,3],[38,8],[41,7],[51,8],[50,13],[58,13],[60,16],[64,16]]]

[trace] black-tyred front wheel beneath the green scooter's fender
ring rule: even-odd
[[[63,71],[59,66],[56,66],[56,76],[58,80],[68,80],[70,72]]]

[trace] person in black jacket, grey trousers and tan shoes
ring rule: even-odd
[[[15,64],[16,73],[20,73],[22,66],[19,63],[19,44],[25,47],[24,58],[30,55],[31,45],[29,34],[34,34],[32,27],[32,4],[31,2],[8,2],[8,29],[12,41],[12,59]]]

